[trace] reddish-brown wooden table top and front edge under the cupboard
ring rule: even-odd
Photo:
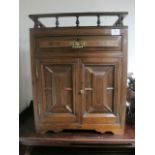
[[[37,134],[32,107],[20,119],[20,143],[28,146],[116,147],[134,148],[134,126],[126,125],[124,135],[100,134],[95,131],[65,130]]]

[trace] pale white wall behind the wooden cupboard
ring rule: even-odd
[[[19,58],[20,58],[20,112],[32,99],[28,18],[34,13],[128,11],[124,24],[129,26],[128,71],[134,72],[134,0],[20,0]]]

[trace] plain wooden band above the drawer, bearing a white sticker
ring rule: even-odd
[[[128,27],[61,27],[61,28],[30,28],[30,33],[36,37],[45,36],[102,36],[102,35],[125,35],[128,33]]]

